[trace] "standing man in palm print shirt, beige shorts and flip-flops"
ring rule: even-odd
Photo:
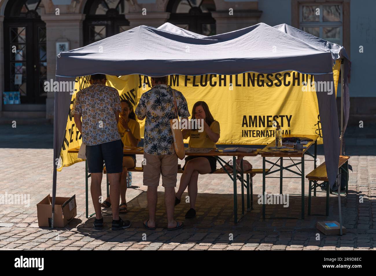
[[[144,222],[147,228],[154,229],[157,204],[157,187],[162,174],[162,186],[165,188],[167,211],[167,229],[178,229],[183,223],[174,220],[175,187],[177,176],[177,155],[170,127],[170,119],[176,118],[175,93],[178,115],[187,119],[190,116],[188,104],[183,94],[167,85],[168,77],[152,78],[152,89],[145,92],[135,110],[139,120],[145,121],[144,132],[144,186],[147,189],[149,220]]]

